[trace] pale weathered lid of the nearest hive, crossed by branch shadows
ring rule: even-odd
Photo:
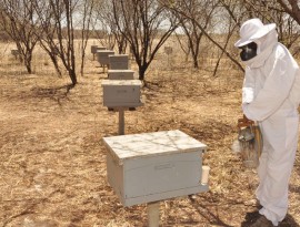
[[[103,137],[103,141],[120,165],[129,158],[207,149],[207,145],[179,130]]]

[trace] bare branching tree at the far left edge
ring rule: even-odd
[[[0,23],[16,43],[28,73],[32,73],[32,52],[38,42],[33,2],[0,0]]]

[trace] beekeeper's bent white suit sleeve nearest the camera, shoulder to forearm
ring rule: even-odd
[[[294,81],[289,63],[284,59],[276,59],[263,87],[251,103],[243,103],[246,116],[253,121],[263,121],[273,114],[289,96]]]

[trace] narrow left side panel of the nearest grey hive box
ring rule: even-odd
[[[113,188],[121,203],[124,203],[123,166],[118,165],[111,153],[107,154],[107,177],[109,185]]]

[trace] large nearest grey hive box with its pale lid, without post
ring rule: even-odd
[[[108,182],[123,206],[208,190],[202,185],[207,146],[181,131],[103,137]]]

